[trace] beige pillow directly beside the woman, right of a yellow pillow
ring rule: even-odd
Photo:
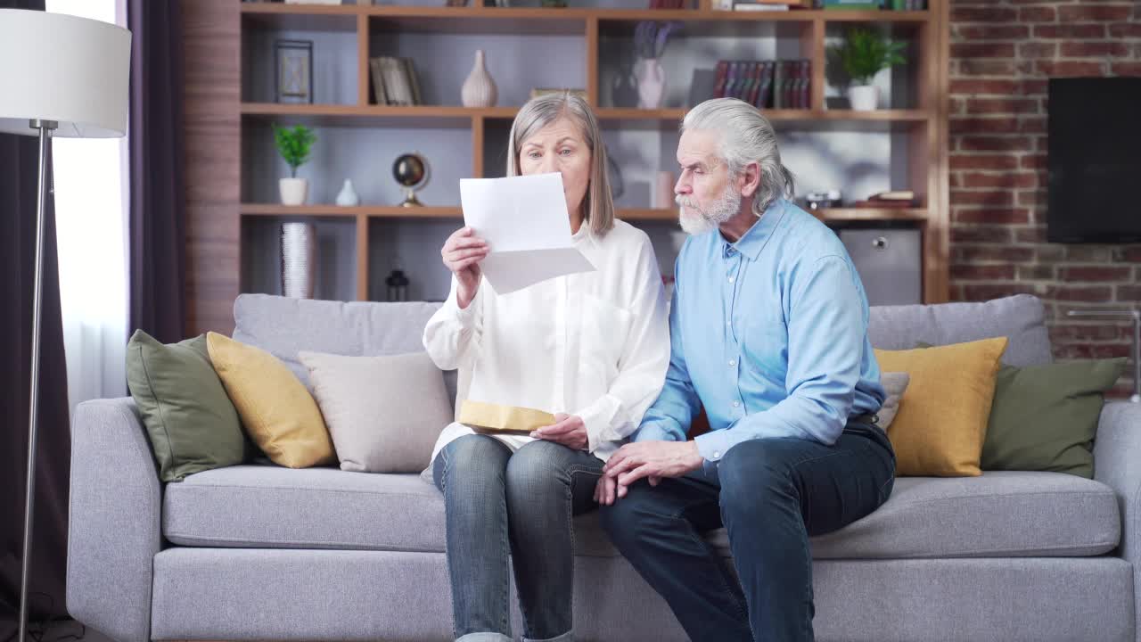
[[[444,374],[426,352],[341,356],[301,352],[342,471],[418,473],[452,422]]]

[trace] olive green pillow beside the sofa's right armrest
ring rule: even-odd
[[[1054,471],[1093,478],[1102,393],[1125,359],[1003,366],[995,382],[984,471]]]

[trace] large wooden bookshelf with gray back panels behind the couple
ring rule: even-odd
[[[803,188],[844,184],[845,200],[877,190],[914,190],[920,202],[911,209],[816,214],[828,223],[919,227],[924,300],[946,300],[947,2],[931,0],[922,11],[744,13],[713,10],[711,0],[696,0],[689,9],[637,8],[647,3],[642,0],[572,0],[574,6],[567,8],[183,0],[188,138],[197,131],[233,138],[217,147],[188,141],[188,329],[225,330],[233,323],[234,296],[273,291],[272,279],[266,280],[275,268],[273,256],[258,255],[258,248],[272,243],[254,236],[272,233],[284,220],[313,220],[329,228],[329,247],[322,249],[340,262],[331,272],[353,276],[350,284],[333,288],[347,295],[338,298],[367,300],[382,294],[377,284],[382,286],[391,266],[386,252],[407,255],[400,259],[404,264],[440,279],[443,266],[431,267],[421,258],[439,263],[439,243],[462,224],[458,180],[503,175],[511,119],[535,86],[585,89],[626,183],[626,193],[616,201],[618,216],[650,234],[667,271],[681,233],[673,210],[650,207],[650,175],[675,172],[677,126],[701,98],[695,88],[718,58],[811,61],[809,109],[766,111],[780,136],[786,164]],[[640,21],[683,24],[663,56],[669,80],[662,109],[618,104],[612,88],[615,77],[624,73],[622,57],[632,49]],[[837,89],[828,78],[827,48],[853,24],[908,43],[909,64],[887,79],[888,109],[832,109]],[[314,40],[315,104],[273,102],[276,38]],[[541,59],[527,59],[526,53],[540,46]],[[460,105],[459,88],[476,48],[488,51],[499,106]],[[367,61],[380,55],[415,61],[428,104],[373,103]],[[274,122],[317,129],[314,160],[299,174],[310,178],[313,204],[277,204],[276,178],[283,166],[268,135]],[[431,207],[397,207],[391,159],[410,151],[423,153],[432,166],[432,180],[420,193]],[[219,163],[232,171],[220,171]],[[364,204],[331,204],[349,176]],[[256,259],[269,267],[253,265]],[[426,298],[439,296],[438,287],[421,291]]]

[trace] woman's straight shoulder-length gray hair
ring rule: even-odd
[[[510,153],[507,159],[507,175],[519,176],[519,152],[523,143],[536,131],[566,117],[582,131],[583,142],[590,149],[590,185],[583,200],[583,219],[590,222],[592,232],[604,235],[614,227],[614,199],[607,177],[606,145],[602,130],[598,127],[594,112],[582,97],[569,91],[547,94],[527,101],[511,123],[508,137]]]

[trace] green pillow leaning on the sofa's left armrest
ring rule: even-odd
[[[210,363],[205,335],[163,345],[136,330],[127,344],[127,385],[162,481],[245,459],[242,423]]]

